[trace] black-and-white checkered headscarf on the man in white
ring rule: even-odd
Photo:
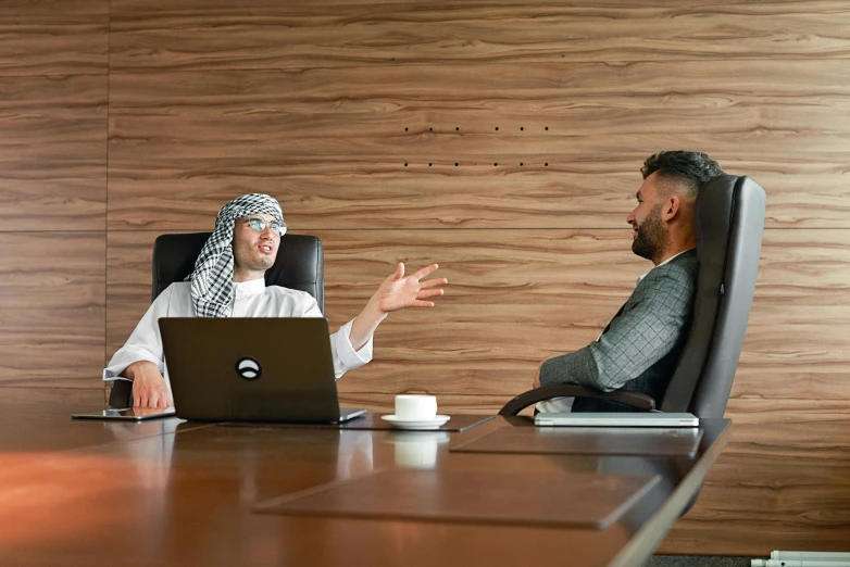
[[[191,299],[198,317],[229,317],[233,302],[234,254],[233,238],[236,220],[263,213],[283,220],[284,213],[273,197],[250,193],[237,197],[218,211],[215,231],[203,244],[191,281]]]

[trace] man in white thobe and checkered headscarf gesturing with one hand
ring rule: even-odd
[[[104,380],[133,381],[135,407],[172,405],[158,320],[161,317],[322,317],[315,299],[303,291],[265,285],[280,237],[286,234],[277,201],[251,193],[218,212],[215,231],[187,281],[168,286],[151,304],[127,342],[103,369]],[[380,285],[361,313],[330,336],[337,378],[372,360],[372,337],[387,314],[405,307],[433,307],[428,298],[445,278],[420,281],[437,264],[404,277],[404,264]]]

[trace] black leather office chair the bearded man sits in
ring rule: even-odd
[[[724,175],[701,188],[697,198],[700,267],[693,320],[661,412],[723,417],[755,290],[764,210],[764,189],[749,177]],[[641,393],[563,385],[520,394],[499,415],[517,415],[532,404],[560,396],[595,398],[657,411],[655,400]]]

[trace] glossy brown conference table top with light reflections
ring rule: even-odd
[[[730,429],[703,420],[693,457],[605,455],[605,432],[599,454],[482,454],[449,448],[499,428],[535,429],[502,417],[462,433],[70,418],[98,408],[0,400],[0,565],[634,566],[697,494]],[[257,509],[388,470],[427,470],[438,482],[458,471],[515,472],[520,492],[593,475],[659,480],[607,529]]]

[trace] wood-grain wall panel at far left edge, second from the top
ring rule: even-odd
[[[0,76],[0,231],[105,228],[107,86]]]

